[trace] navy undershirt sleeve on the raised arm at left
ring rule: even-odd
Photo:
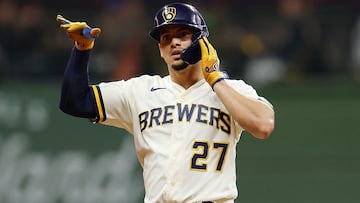
[[[67,114],[94,119],[97,117],[97,110],[89,85],[89,57],[90,50],[72,49],[64,73],[59,107]]]

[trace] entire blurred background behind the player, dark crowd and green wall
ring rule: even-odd
[[[91,82],[166,74],[147,33],[170,1],[0,1],[0,203],[138,203],[131,135],[63,114],[72,42],[57,14],[102,28]],[[187,1],[222,69],[276,110],[276,129],[238,145],[236,202],[359,202],[360,2]]]

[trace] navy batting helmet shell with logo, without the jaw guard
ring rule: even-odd
[[[194,6],[189,4],[171,3],[162,7],[155,15],[150,36],[160,41],[160,30],[165,25],[187,25],[209,36],[204,18]]]

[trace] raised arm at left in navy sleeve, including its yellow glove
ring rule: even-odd
[[[101,30],[91,28],[85,22],[71,22],[61,15],[56,20],[75,43],[65,69],[59,107],[73,116],[96,119],[98,116],[89,85],[88,61],[95,38]]]

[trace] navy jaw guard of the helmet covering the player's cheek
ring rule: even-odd
[[[181,59],[187,64],[195,64],[201,60],[201,49],[199,40],[206,36],[204,32],[197,32],[192,36],[191,45],[181,52]]]

